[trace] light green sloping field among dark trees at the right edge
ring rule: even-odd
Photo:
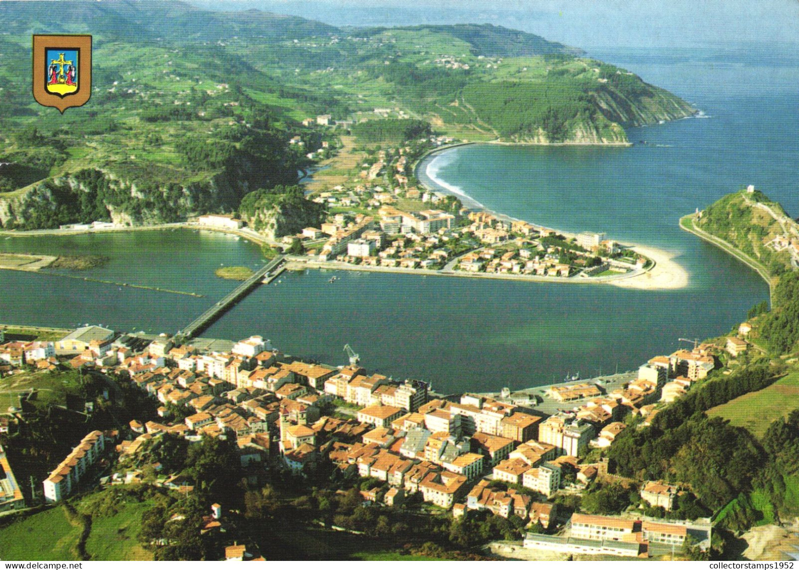
[[[770,385],[768,388],[744,394],[732,401],[711,408],[709,417],[723,417],[731,425],[746,428],[761,437],[769,424],[799,408],[799,371]]]

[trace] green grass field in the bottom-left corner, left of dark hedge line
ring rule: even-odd
[[[50,508],[0,530],[2,560],[78,560],[81,526],[64,509]]]

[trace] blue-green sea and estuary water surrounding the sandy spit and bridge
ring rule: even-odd
[[[799,54],[759,46],[592,50],[694,104],[698,118],[628,130],[628,148],[467,145],[419,166],[511,217],[666,249],[685,289],[521,283],[385,273],[286,272],[255,289],[203,336],[260,334],[285,353],[332,365],[344,345],[372,372],[430,381],[436,391],[522,389],[579,374],[636,369],[729,333],[768,299],[746,265],[678,227],[678,219],[753,184],[799,213]],[[111,261],[55,275],[0,271],[0,323],[174,333],[235,282],[220,265],[264,261],[220,233],[177,229],[70,237],[0,237],[0,251],[100,253]],[[71,275],[63,277],[58,274]],[[339,277],[330,283],[332,275]],[[190,297],[78,277],[198,293]]]

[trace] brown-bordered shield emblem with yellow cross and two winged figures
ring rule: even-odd
[[[62,113],[89,101],[92,90],[90,35],[34,34],[34,98]]]

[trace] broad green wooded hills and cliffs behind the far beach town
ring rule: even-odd
[[[339,28],[178,0],[0,2],[0,20],[6,228],[234,211],[312,163],[319,147],[290,139],[335,142],[343,131],[301,124],[317,115],[414,119],[469,141],[619,144],[624,126],[694,112],[575,48],[485,24]],[[55,116],[33,101],[33,33],[93,35],[86,106]],[[93,205],[76,209],[88,204],[78,192]]]

